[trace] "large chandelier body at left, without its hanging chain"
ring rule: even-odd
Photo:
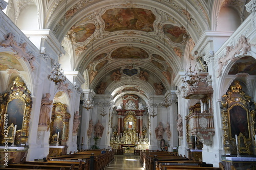
[[[59,63],[53,65],[53,70],[50,75],[48,75],[48,79],[54,82],[55,85],[66,81],[67,78],[63,75],[63,70],[60,68]]]

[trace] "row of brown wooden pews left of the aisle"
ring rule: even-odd
[[[58,170],[101,170],[114,160],[113,151],[88,150],[78,151],[66,155],[48,157],[47,162],[25,161],[20,164],[8,163],[0,169],[30,170],[30,169],[58,169]]]

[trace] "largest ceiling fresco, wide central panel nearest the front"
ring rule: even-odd
[[[154,31],[156,16],[150,10],[141,8],[117,8],[106,10],[101,16],[105,22],[105,31],[139,30]]]

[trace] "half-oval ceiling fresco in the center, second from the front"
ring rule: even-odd
[[[114,59],[145,59],[148,54],[139,47],[124,46],[117,48],[111,57]]]

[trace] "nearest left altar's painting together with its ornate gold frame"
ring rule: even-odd
[[[25,145],[29,135],[29,120],[32,108],[31,92],[27,89],[24,82],[16,77],[12,82],[11,92],[4,94],[4,102],[1,103],[1,142]],[[7,118],[7,119],[6,119]],[[7,122],[3,120],[7,120]],[[16,126],[16,133],[12,126]],[[7,131],[8,132],[7,132]],[[9,133],[12,130],[12,133]],[[6,132],[8,133],[7,136]],[[13,134],[10,136],[10,134]],[[14,140],[15,136],[15,140]],[[4,140],[4,137],[6,140]]]

